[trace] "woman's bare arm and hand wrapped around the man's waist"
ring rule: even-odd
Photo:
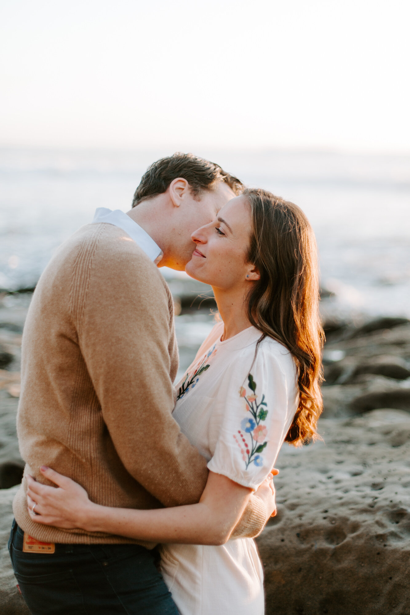
[[[251,488],[209,472],[198,504],[155,510],[111,508],[90,502],[86,491],[70,478],[50,468],[42,472],[58,488],[26,476],[28,509],[32,513],[36,509],[34,522],[148,542],[223,544],[252,497]]]

